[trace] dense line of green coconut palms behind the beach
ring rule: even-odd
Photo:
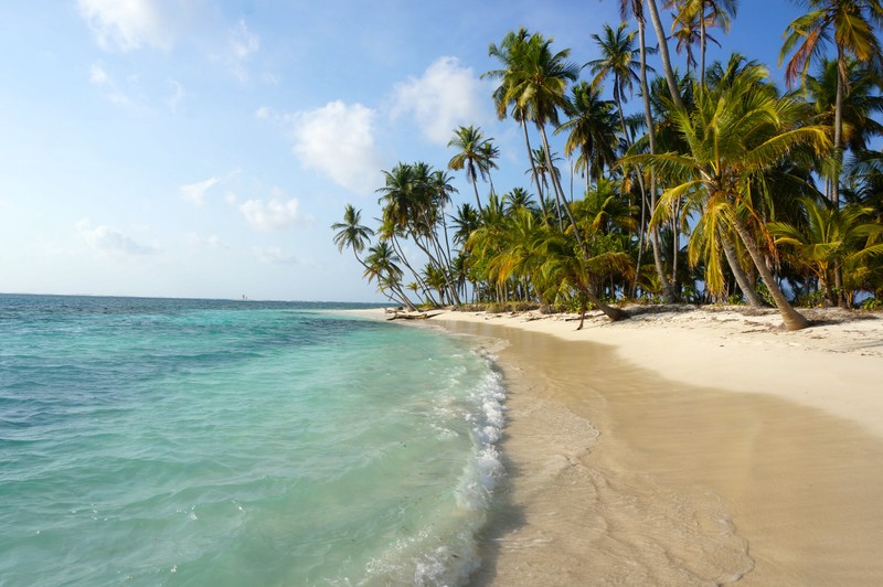
[[[628,300],[726,301],[775,306],[796,330],[808,324],[800,307],[883,305],[883,157],[871,148],[883,136],[881,0],[802,1],[785,29],[785,89],[743,55],[706,64],[735,0],[664,2],[669,35],[655,0],[619,4],[623,22],[592,35],[600,56],[582,65],[525,29],[489,46],[499,67],[483,77],[498,84],[500,119],[520,127],[529,188],[499,193],[494,139],[461,126],[445,169],[383,172],[377,228],[347,205],[332,225],[339,249],[408,308],[594,306],[619,320]],[[578,196],[562,185],[550,131],[585,178]],[[475,206],[451,209],[454,172]]]

